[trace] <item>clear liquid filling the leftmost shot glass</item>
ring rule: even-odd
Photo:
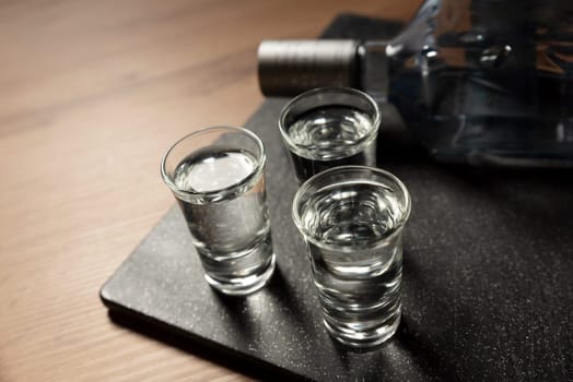
[[[274,267],[265,177],[261,169],[253,175],[256,168],[248,152],[204,150],[175,169],[176,187],[191,192],[177,200],[206,278],[226,294],[258,289]]]

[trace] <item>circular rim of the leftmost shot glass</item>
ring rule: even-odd
[[[257,159],[257,166],[242,180],[227,186],[222,189],[212,190],[212,191],[194,191],[194,190],[182,190],[178,188],[175,182],[173,181],[172,177],[167,174],[166,170],[166,163],[169,157],[169,154],[178,147],[183,142],[187,142],[190,139],[204,135],[207,133],[212,133],[214,131],[226,131],[232,133],[238,133],[244,134],[252,139],[257,147],[259,148],[260,154],[256,156]],[[217,202],[223,198],[232,198],[234,195],[237,195],[250,188],[250,186],[254,186],[254,183],[259,179],[259,177],[262,175],[265,169],[265,163],[266,163],[267,154],[265,152],[265,145],[262,144],[262,141],[260,138],[257,136],[253,131],[241,128],[241,127],[230,127],[230,126],[215,126],[215,127],[209,127],[204,129],[200,129],[197,131],[194,131],[189,134],[184,135],[179,140],[177,140],[175,143],[173,143],[169,148],[165,152],[161,159],[161,177],[163,179],[163,182],[167,184],[167,187],[171,189],[171,191],[176,194],[177,196],[184,198],[186,201],[197,201],[197,202]]]

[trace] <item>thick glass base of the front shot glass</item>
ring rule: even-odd
[[[348,325],[337,325],[330,320],[324,320],[328,333],[339,343],[354,348],[375,347],[390,338],[400,324],[401,309],[391,314],[381,325],[367,330],[353,330]]]

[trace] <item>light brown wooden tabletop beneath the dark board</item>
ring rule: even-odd
[[[167,146],[262,102],[261,39],[419,2],[0,2],[0,381],[249,380],[115,324],[98,289],[174,202]]]

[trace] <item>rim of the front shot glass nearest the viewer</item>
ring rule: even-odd
[[[328,177],[328,176],[330,176],[330,175],[332,175],[335,172],[343,174],[346,171],[370,171],[370,172],[374,172],[374,174],[376,174],[378,176],[388,178],[391,182],[394,182],[394,183],[396,183],[396,186],[398,186],[398,189],[404,194],[404,203],[402,204],[405,205],[405,208],[404,208],[404,212],[402,212],[402,214],[400,216],[399,222],[396,224],[395,227],[393,227],[391,230],[389,230],[386,235],[384,235],[378,240],[376,240],[375,243],[372,247],[370,247],[370,246],[367,247],[369,249],[376,249],[376,248],[383,246],[393,236],[395,236],[395,235],[397,235],[398,232],[401,231],[401,229],[404,228],[404,226],[408,222],[408,218],[410,217],[411,205],[412,205],[410,192],[408,191],[408,189],[406,188],[404,182],[398,177],[396,177],[394,174],[391,174],[389,171],[386,171],[386,170],[383,170],[382,168],[369,167],[369,166],[339,166],[339,167],[329,168],[329,169],[327,169],[325,171],[321,171],[321,172],[318,172],[318,174],[314,175],[308,180],[306,180],[299,188],[296,193],[294,194],[293,202],[292,202],[292,210],[291,210],[292,219],[294,222],[294,225],[299,229],[299,231],[303,235],[305,241],[309,241],[309,242],[314,243],[315,246],[317,246],[319,248],[329,249],[329,250],[334,250],[334,251],[338,251],[338,252],[354,251],[354,249],[351,248],[351,247],[347,248],[347,247],[341,247],[341,246],[332,246],[332,244],[328,244],[328,243],[321,242],[320,240],[317,240],[316,237],[304,227],[304,225],[302,224],[301,215],[299,213],[299,205],[301,204],[303,195],[306,192],[308,192],[308,190],[314,186],[314,183],[316,183],[320,179],[323,179],[325,177]],[[349,178],[346,181],[350,181],[350,180],[351,179]],[[371,184],[373,182],[381,183],[379,181],[376,181],[375,179],[372,179],[372,178],[369,179],[367,177],[363,177],[361,179],[361,182],[362,183],[367,182],[367,183],[371,183]],[[341,183],[341,182],[339,182],[339,183]],[[334,184],[332,182],[326,183],[325,186],[318,188],[318,190],[321,190],[325,187],[331,187],[332,184]]]

